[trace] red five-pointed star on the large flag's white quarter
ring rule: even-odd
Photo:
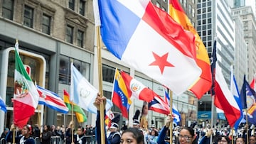
[[[171,65],[170,62],[167,62],[168,52],[164,54],[163,56],[156,55],[156,53],[152,52],[154,55],[154,58],[156,59],[154,62],[152,62],[150,65],[157,65],[159,66],[161,70],[161,74],[164,72],[164,67],[174,67],[174,65]]]

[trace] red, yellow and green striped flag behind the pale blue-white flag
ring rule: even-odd
[[[64,99],[64,102],[65,102],[65,105],[68,107],[68,109],[70,111],[72,111],[72,105],[73,105],[73,111],[75,112],[75,116],[78,120],[78,123],[86,122],[87,117],[85,115],[85,111],[83,111],[80,108],[80,106],[70,102],[70,96],[69,96],[68,92],[65,89],[63,89],[63,94],[64,94],[63,99]]]

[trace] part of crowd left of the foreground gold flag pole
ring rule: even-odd
[[[58,138],[59,140],[57,143],[61,144],[64,142],[66,144],[89,144],[95,141],[93,138],[95,135],[95,128],[92,128],[92,125],[86,125],[85,128],[78,126],[76,129],[73,129],[73,133],[72,128],[72,121],[66,127],[44,125],[42,131],[37,124],[34,126],[27,124],[26,126],[23,126],[23,128],[15,127],[14,124],[12,124],[10,129],[4,128],[4,132],[1,133],[0,143],[50,144],[53,142],[53,138]]]

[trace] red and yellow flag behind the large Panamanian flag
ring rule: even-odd
[[[196,63],[201,68],[202,73],[198,81],[193,84],[189,89],[193,94],[195,94],[198,99],[201,99],[203,94],[210,90],[212,85],[212,76],[210,72],[210,60],[208,57],[208,52],[200,36],[196,32],[196,29],[193,27],[188,16],[183,11],[181,5],[178,3],[178,0],[169,1],[169,13],[171,18],[174,18],[174,21],[181,24],[183,28],[187,31],[191,31],[196,36]]]

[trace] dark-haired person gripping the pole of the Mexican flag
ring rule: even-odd
[[[6,141],[12,142],[13,140],[13,131],[15,129],[14,125],[11,125],[11,131],[6,135]],[[17,135],[15,138],[16,143],[20,144],[35,144],[35,140],[32,137],[32,126],[31,125],[25,125],[21,129],[21,135]]]

